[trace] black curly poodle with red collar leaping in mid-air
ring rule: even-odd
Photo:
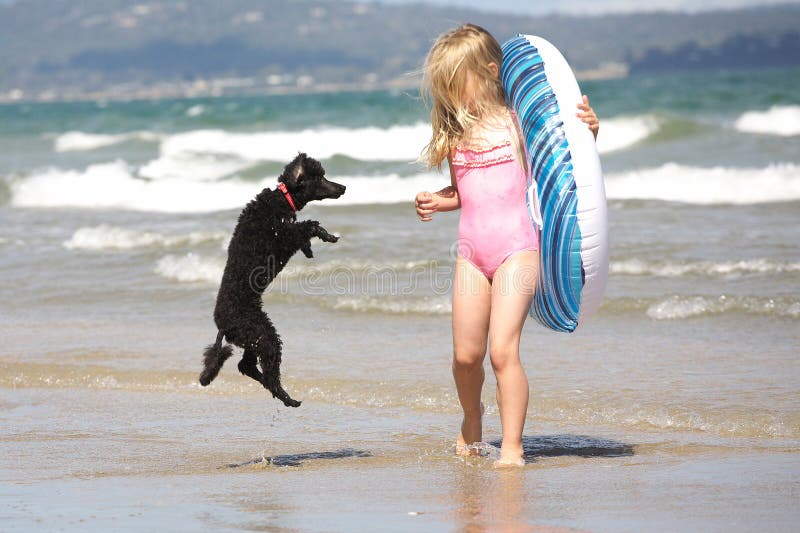
[[[319,161],[300,154],[283,169],[277,189],[264,189],[242,210],[228,245],[228,263],[214,308],[219,332],[203,353],[201,385],[211,383],[233,353],[230,345],[222,346],[224,337],[244,348],[239,361],[242,374],[261,383],[285,405],[300,405],[281,386],[281,338],[261,309],[261,294],[297,250],[312,257],[312,237],[339,240],[316,220],[297,222],[295,212],[312,200],[338,198],[344,190],[343,185],[325,179]]]

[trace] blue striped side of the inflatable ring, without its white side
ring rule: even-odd
[[[540,269],[530,314],[556,331],[578,326],[584,284],[578,195],[572,156],[539,51],[524,37],[503,45],[503,89],[519,118],[527,151],[528,188],[542,216]],[[533,219],[534,206],[528,201]]]

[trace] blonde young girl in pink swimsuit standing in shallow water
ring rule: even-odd
[[[451,185],[420,192],[414,203],[423,222],[437,211],[461,209],[452,320],[453,377],[464,419],[456,452],[470,453],[482,438],[488,339],[503,427],[495,466],[521,466],[528,380],[519,341],[536,287],[539,242],[525,203],[525,150],[503,96],[501,62],[498,42],[472,24],[434,43],[424,70],[433,127],[424,156],[440,169],[447,159]],[[586,96],[577,106],[597,137],[599,122]]]

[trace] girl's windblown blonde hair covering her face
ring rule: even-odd
[[[430,109],[433,134],[422,152],[428,167],[442,161],[470,128],[498,106],[505,105],[503,87],[490,64],[503,60],[500,44],[474,24],[464,24],[436,39],[423,71],[422,97]],[[465,103],[465,88],[473,84],[474,98]]]

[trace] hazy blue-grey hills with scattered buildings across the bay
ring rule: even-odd
[[[604,75],[681,69],[681,54],[729,54],[731,39],[768,43],[800,28],[800,6],[526,18],[332,0],[19,0],[0,5],[0,95],[408,86],[435,36],[465,21],[501,41],[536,33]]]

